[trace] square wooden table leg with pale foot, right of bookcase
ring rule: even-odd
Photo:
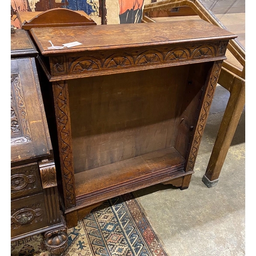
[[[222,70],[219,83],[223,84],[223,87],[230,92],[230,97],[205,175],[202,179],[207,187],[216,186],[218,183],[221,168],[245,105],[244,79],[224,69]]]

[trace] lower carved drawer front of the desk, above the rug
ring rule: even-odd
[[[44,196],[37,194],[11,202],[11,237],[48,226]]]

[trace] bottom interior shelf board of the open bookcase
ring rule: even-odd
[[[97,190],[110,190],[122,183],[144,180],[146,176],[157,176],[165,169],[175,169],[184,165],[185,159],[174,147],[134,157],[114,164],[75,174],[76,196],[94,193]],[[90,182],[87,182],[90,181]],[[86,184],[86,185],[85,185]]]

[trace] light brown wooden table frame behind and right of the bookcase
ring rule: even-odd
[[[170,12],[172,8],[179,8],[180,12]],[[163,0],[147,4],[144,6],[142,22],[156,22],[153,16],[163,16],[163,13],[168,16],[183,16],[184,19],[190,15],[198,15],[211,24],[227,29],[199,0]],[[223,163],[245,105],[245,50],[236,39],[229,41],[227,49],[230,53],[223,62],[218,83],[229,91],[230,96],[202,179],[207,187],[215,186],[219,181]],[[234,64],[232,59],[237,60],[239,65]]]

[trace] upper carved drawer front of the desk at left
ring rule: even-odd
[[[37,163],[11,168],[11,199],[42,191]]]

